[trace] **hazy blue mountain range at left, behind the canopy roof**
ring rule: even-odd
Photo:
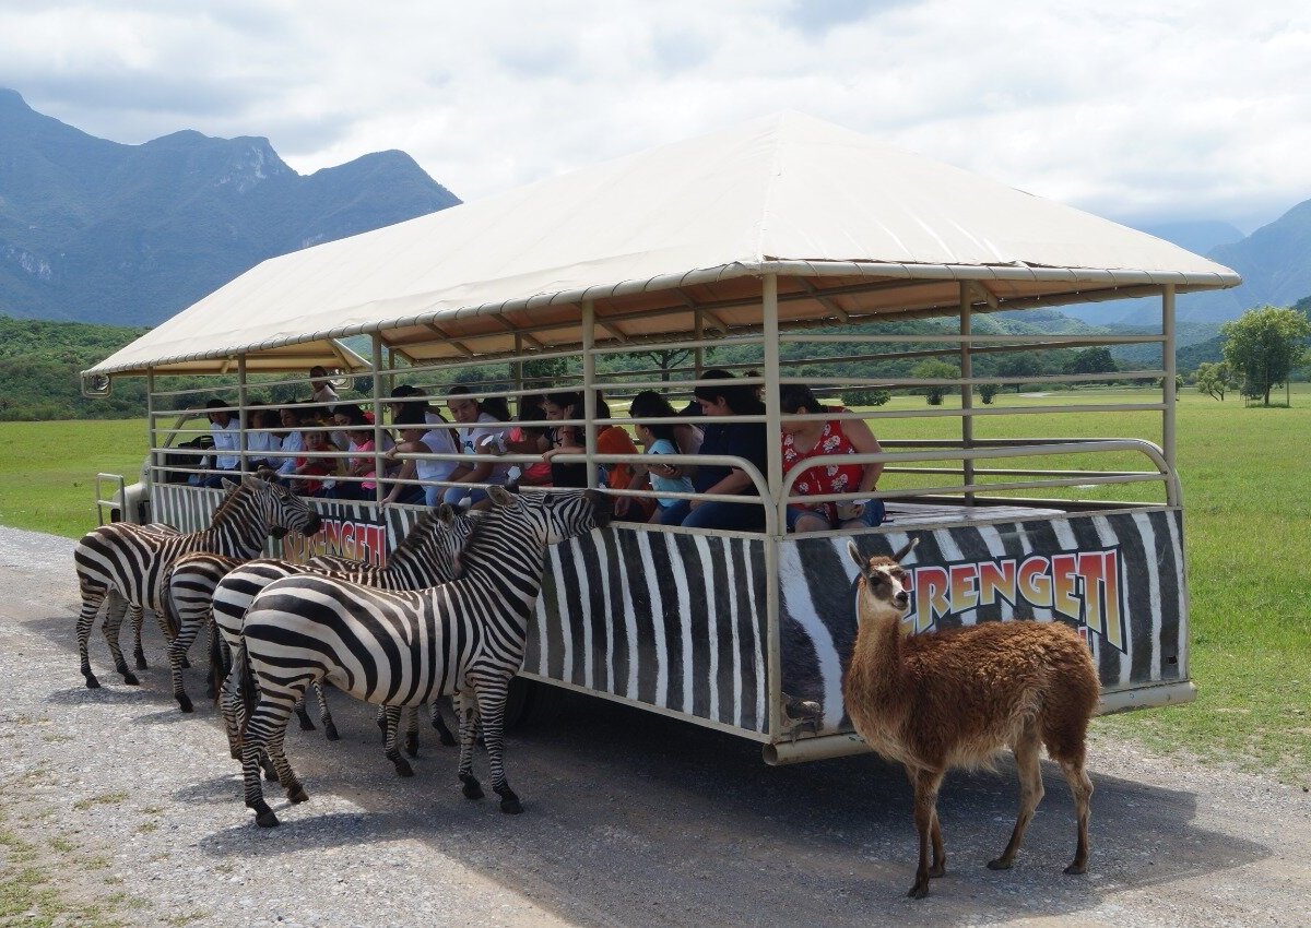
[[[459,203],[399,151],[302,176],[267,139],[97,139],[0,88],[0,315],[155,325],[265,258]]]

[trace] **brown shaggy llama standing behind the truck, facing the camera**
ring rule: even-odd
[[[1009,869],[1042,801],[1041,744],[1061,765],[1078,813],[1079,840],[1065,872],[1084,873],[1092,797],[1086,738],[1101,693],[1088,646],[1059,623],[988,621],[905,634],[901,620],[910,596],[901,560],[915,544],[893,557],[865,557],[847,544],[860,566],[860,628],[843,684],[856,730],[885,758],[903,763],[915,788],[919,868],[909,895],[923,899],[929,877],[947,872],[937,819],[937,790],[947,771],[987,765],[1004,747],[1019,768],[1020,815],[1009,843],[988,868]]]

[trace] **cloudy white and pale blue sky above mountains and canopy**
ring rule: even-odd
[[[114,142],[400,148],[473,201],[796,109],[1139,225],[1311,199],[1307,0],[0,0],[0,87]]]

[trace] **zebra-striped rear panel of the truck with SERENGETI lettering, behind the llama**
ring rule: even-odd
[[[910,537],[910,630],[1034,619],[1088,641],[1105,689],[1188,679],[1188,594],[1179,510],[856,536],[864,554]],[[846,537],[780,543],[783,691],[822,706],[822,733],[848,731],[842,679],[856,637],[856,565]]]

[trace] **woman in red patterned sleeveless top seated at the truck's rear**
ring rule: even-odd
[[[784,416],[843,413],[822,405],[801,384],[779,388],[779,404]],[[783,473],[802,461],[819,455],[874,455],[881,452],[878,439],[861,419],[809,419],[783,422]],[[884,472],[880,461],[872,464],[839,464],[810,468],[792,485],[792,495],[826,495],[830,493],[859,493],[860,499],[846,503],[798,503],[788,506],[789,532],[822,532],[831,528],[863,528],[884,520],[882,499],[873,498],[878,477]]]

